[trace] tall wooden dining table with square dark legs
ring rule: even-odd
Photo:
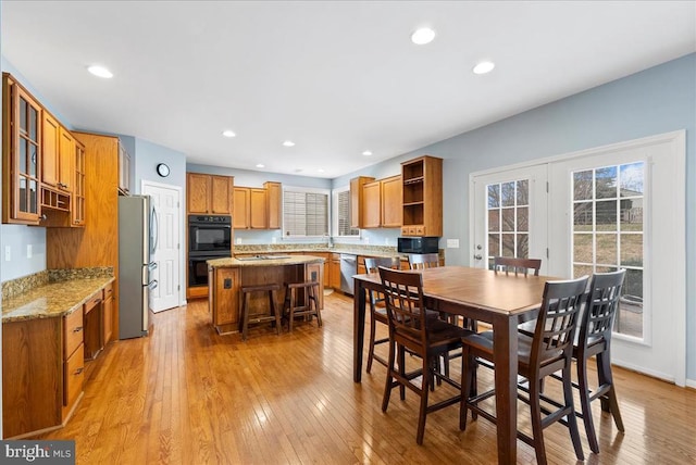
[[[493,272],[465,266],[440,266],[423,274],[423,294],[430,309],[492,325],[494,334],[498,463],[517,461],[518,322],[538,310],[548,276]],[[353,381],[362,376],[368,290],[380,290],[377,273],[356,275],[353,298]]]

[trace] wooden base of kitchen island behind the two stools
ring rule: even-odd
[[[323,263],[300,263],[270,266],[209,267],[208,294],[212,323],[219,334],[239,332],[241,312],[241,287],[266,284],[300,282],[316,280],[320,284],[320,309],[323,307]],[[283,309],[285,291],[276,294],[276,309]],[[250,311],[265,311],[269,307],[268,296],[249,296]]]

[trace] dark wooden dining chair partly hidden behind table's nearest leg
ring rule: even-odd
[[[580,310],[586,301],[585,289],[588,279],[587,276],[583,276],[577,279],[546,282],[534,336],[530,338],[519,335],[518,373],[526,378],[529,385],[524,390],[527,397],[520,392],[519,398],[530,405],[533,435],[530,437],[518,430],[518,438],[534,448],[538,464],[547,463],[543,430],[556,422],[568,427],[575,456],[579,461],[584,460],[573,405],[571,360],[573,338],[580,319]],[[467,336],[462,344],[462,399],[459,427],[464,430],[468,411],[496,422],[495,415],[478,405],[480,402],[494,395],[495,390],[471,394],[474,388],[473,374],[477,365],[476,359],[488,362],[494,360],[493,331]],[[542,392],[542,380],[559,370],[563,388],[562,401],[551,399]],[[472,416],[476,418],[476,415]]]

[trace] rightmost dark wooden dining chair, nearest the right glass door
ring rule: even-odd
[[[577,338],[573,344],[573,357],[577,362],[577,388],[580,390],[580,405],[589,449],[599,453],[599,442],[592,417],[591,403],[599,399],[601,410],[613,417],[619,431],[624,430],[617,390],[611,373],[611,332],[613,321],[619,309],[621,287],[626,271],[612,273],[595,273],[589,285],[589,298],[585,306],[577,330]],[[592,391],[587,378],[587,362],[592,356],[597,362],[598,387]]]

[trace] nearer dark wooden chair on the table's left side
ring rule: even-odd
[[[406,399],[406,388],[415,392],[421,398],[415,442],[422,444],[426,415],[457,404],[461,399],[461,385],[438,369],[440,354],[461,348],[462,338],[473,335],[473,331],[427,314],[421,273],[401,272],[383,266],[378,269],[389,325],[389,361],[382,411],[387,411],[394,388],[399,387],[401,400]],[[407,351],[422,360],[419,369],[406,370]],[[419,377],[420,384],[414,382]],[[428,391],[433,379],[440,379],[452,386],[457,393],[428,405]]]

